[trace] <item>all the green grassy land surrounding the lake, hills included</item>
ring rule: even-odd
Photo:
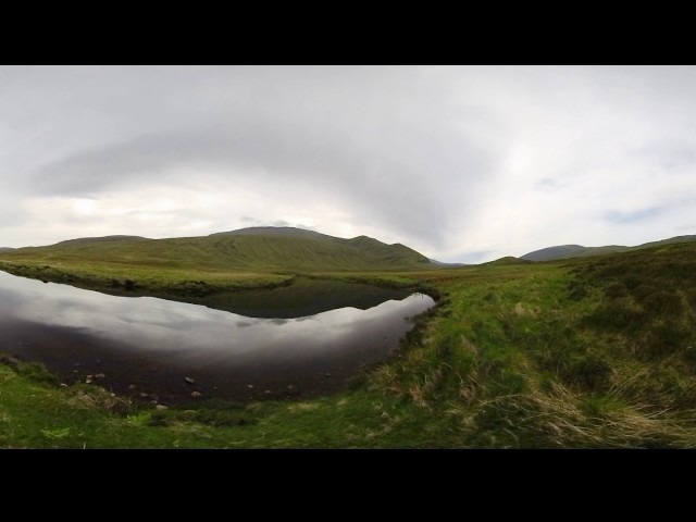
[[[374,240],[360,247],[368,261],[355,245],[327,241],[318,253],[306,241],[126,239],[0,253],[0,269],[17,275],[181,300],[298,276],[418,286],[438,300],[396,357],[312,400],[158,410],[94,385],[61,387],[4,356],[0,447],[696,446],[696,244],[438,269]]]

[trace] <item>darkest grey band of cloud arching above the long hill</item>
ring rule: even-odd
[[[362,122],[327,133],[326,122],[303,125],[302,114],[298,122],[239,116],[233,123],[86,149],[44,165],[32,181],[41,194],[72,196],[186,184],[185,167],[214,170],[226,178],[252,175],[287,186],[301,182],[332,191],[365,222],[440,244],[450,224],[448,209],[467,209],[495,162],[461,135],[450,135],[448,121],[439,116],[406,121],[402,126],[375,120],[374,126],[384,133],[380,141],[365,139]]]

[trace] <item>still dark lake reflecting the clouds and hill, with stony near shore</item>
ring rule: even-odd
[[[409,318],[434,304],[422,294],[302,278],[208,301],[109,296],[0,272],[0,351],[42,362],[64,383],[90,380],[165,405],[312,397],[393,355]]]

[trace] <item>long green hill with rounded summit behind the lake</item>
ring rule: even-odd
[[[290,227],[252,227],[204,237],[147,239],[108,236],[27,247],[7,260],[99,263],[200,270],[394,270],[432,266],[425,256],[400,244],[351,239]]]

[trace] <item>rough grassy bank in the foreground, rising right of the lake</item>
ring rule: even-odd
[[[696,446],[696,245],[372,276],[444,297],[352,389],[120,412],[0,366],[0,446]]]

